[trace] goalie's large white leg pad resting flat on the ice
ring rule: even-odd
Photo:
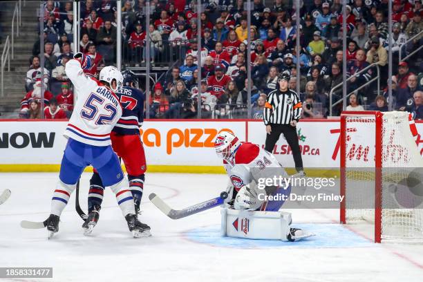
[[[288,241],[291,214],[288,212],[240,211],[222,207],[222,236]]]

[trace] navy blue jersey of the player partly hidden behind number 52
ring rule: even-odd
[[[144,94],[129,86],[123,86],[116,94],[123,111],[113,132],[122,135],[140,135],[144,115]]]

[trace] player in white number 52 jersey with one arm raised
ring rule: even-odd
[[[91,59],[77,53],[65,68],[78,99],[64,133],[68,143],[47,220],[49,236],[59,231],[59,216],[88,165],[97,169],[104,186],[115,193],[133,236],[149,236],[150,227],[140,223],[135,215],[129,182],[124,178],[118,157],[111,147],[111,130],[122,115],[122,106],[115,95],[123,84],[122,74],[118,68],[106,66],[100,71],[100,80],[97,80],[84,74],[84,69],[90,66]]]

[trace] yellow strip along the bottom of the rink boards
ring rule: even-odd
[[[125,171],[124,166],[122,169]],[[60,164],[0,164],[0,172],[58,172]],[[93,167],[86,167],[85,172],[92,172]],[[294,169],[286,169],[288,174],[295,174]],[[225,173],[225,169],[216,166],[198,166],[198,165],[154,165],[148,166],[149,172],[167,172],[167,173]],[[337,177],[339,170],[335,169],[306,169],[306,175],[309,177]]]

